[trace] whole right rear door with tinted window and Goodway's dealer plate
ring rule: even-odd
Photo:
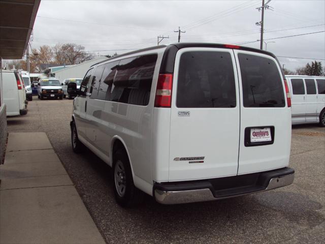
[[[285,167],[290,155],[291,111],[280,67],[270,55],[234,52],[241,90],[238,174]]]

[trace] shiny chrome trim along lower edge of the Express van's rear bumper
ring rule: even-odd
[[[210,189],[199,189],[199,190],[188,190],[188,191],[177,191],[177,192],[167,192],[167,191],[160,191],[156,189],[154,191],[154,196],[156,201],[161,204],[180,204],[180,203],[220,200],[224,198],[237,197],[237,196],[253,194],[257,192],[265,192],[272,189],[285,187],[291,185],[294,182],[294,178],[295,178],[295,174],[288,174],[280,177],[271,178],[267,188],[263,191],[238,194],[229,197],[214,197]]]

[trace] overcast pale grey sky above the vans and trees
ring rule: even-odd
[[[265,1],[267,2],[267,0]],[[311,59],[325,64],[325,1],[272,0],[265,11],[267,50],[284,68],[295,70]],[[212,42],[259,48],[262,0],[246,1],[46,1],[42,0],[34,25],[32,48],[56,43],[76,43],[96,55],[118,54],[125,49],[160,44]],[[271,8],[272,7],[272,8]],[[271,10],[272,9],[272,10]],[[124,50],[122,50],[124,49]],[[265,44],[264,44],[265,49]]]

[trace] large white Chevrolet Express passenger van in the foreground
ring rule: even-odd
[[[117,202],[208,201],[290,185],[289,90],[276,57],[177,43],[119,55],[70,83],[75,152],[113,170]]]

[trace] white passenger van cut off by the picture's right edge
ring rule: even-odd
[[[325,127],[325,77],[286,75],[291,103],[292,124],[319,123]]]

